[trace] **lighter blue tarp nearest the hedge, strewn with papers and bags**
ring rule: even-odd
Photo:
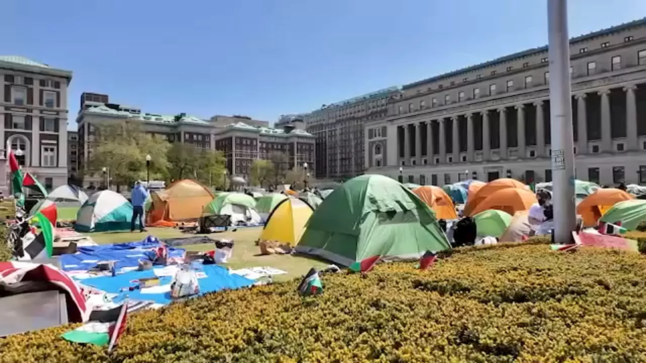
[[[202,265],[202,272],[205,277],[198,279],[200,285],[200,295],[205,293],[212,293],[224,289],[239,289],[240,287],[247,287],[254,283],[240,275],[229,274],[229,271],[224,267],[218,265]],[[122,300],[127,297],[134,300],[149,300],[158,304],[170,304],[172,302],[169,292],[160,294],[142,294],[140,290],[121,292],[122,288],[127,288],[136,285],[136,280],[139,278],[154,277],[155,273],[152,270],[147,271],[130,271],[120,275],[101,276],[95,278],[85,278],[80,282],[84,285],[96,287],[107,293],[118,294],[119,296],[114,301]],[[163,276],[160,278],[160,285],[170,284],[172,276]]]

